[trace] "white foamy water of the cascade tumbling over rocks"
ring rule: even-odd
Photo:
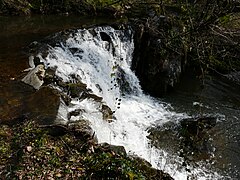
[[[218,174],[201,167],[189,167],[191,172],[187,172],[181,158],[151,146],[147,138],[149,127],[186,115],[167,110],[163,103],[142,92],[130,69],[133,49],[130,30],[114,30],[109,26],[78,30],[66,42],[51,47],[44,59],[46,67],[57,67],[56,75],[65,82],[73,81],[75,75],[103,98],[102,102],[72,99],[67,109],[61,106],[59,114],[68,121],[67,112],[84,109],[81,117],[70,120],[89,120],[100,143],[122,145],[129,154],[146,159],[175,179],[219,179]],[[115,111],[113,122],[102,119],[102,104]]]

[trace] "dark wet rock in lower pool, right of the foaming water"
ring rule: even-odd
[[[148,130],[151,144],[182,157],[183,166],[201,160],[211,159],[216,144],[213,138],[216,132],[216,117],[187,118],[168,122]],[[170,143],[169,143],[170,142]]]

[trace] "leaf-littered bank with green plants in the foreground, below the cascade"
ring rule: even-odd
[[[1,179],[150,179],[150,166],[141,169],[143,161],[127,157],[124,149],[96,144],[73,131],[52,134],[49,127],[34,121],[1,125]]]

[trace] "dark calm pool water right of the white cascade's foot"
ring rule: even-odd
[[[175,92],[163,101],[174,111],[191,116],[216,116],[209,132],[213,157],[202,159],[208,168],[224,174],[224,179],[240,179],[240,87],[225,79],[206,78],[204,87],[192,75],[185,75]]]

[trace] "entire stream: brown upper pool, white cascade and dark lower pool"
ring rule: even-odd
[[[74,16],[0,17],[0,106],[4,107],[0,110],[7,109],[6,102],[17,107],[19,99],[33,93],[21,87],[16,89],[19,86],[15,85],[16,80],[23,78],[22,71],[29,68],[23,47],[58,31],[111,21]],[[77,98],[72,99],[71,106],[60,108],[63,119],[67,117],[64,111],[84,109],[81,117],[70,120],[88,119],[99,142],[123,145],[129,154],[146,159],[174,179],[239,179],[239,87],[209,77],[201,88],[198,79],[185,74],[175,91],[161,99],[153,98],[142,92],[131,71],[132,32],[114,30],[109,26],[94,31],[96,35],[88,30],[75,31],[66,42],[51,47],[46,58],[38,57],[46,67],[57,67],[56,74],[64,82],[73,81],[72,74],[79,76],[95,95],[103,98],[103,103],[115,112],[116,119],[111,123],[102,121],[99,111],[102,102]],[[102,40],[103,33],[110,37],[111,43]],[[191,159],[191,163],[183,166],[175,127],[179,126],[181,119],[199,115],[217,117],[217,124],[210,132],[211,156]],[[171,133],[161,135],[161,131],[165,132],[163,127],[169,123]],[[157,132],[155,145],[148,138],[149,129]]]

